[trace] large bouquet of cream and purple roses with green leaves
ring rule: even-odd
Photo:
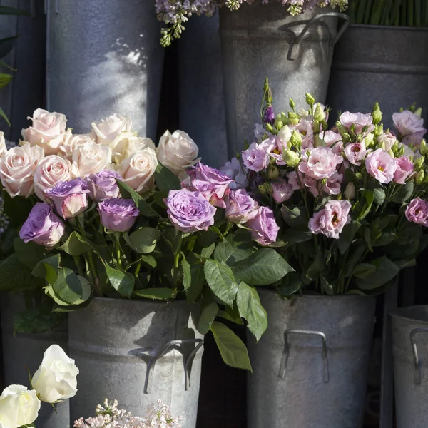
[[[49,330],[93,295],[183,298],[200,304],[198,330],[213,332],[225,362],[250,369],[245,345],[215,318],[243,317],[257,339],[263,334],[267,317],[254,286],[291,270],[252,240],[275,240],[272,211],[248,195],[230,197],[235,180],[200,163],[181,131],[167,131],[155,148],[121,116],[93,123],[84,136],[71,135],[58,113],[36,111],[33,122],[21,146],[0,158],[19,228],[19,238],[8,238],[14,253],[0,265],[0,290],[38,302],[15,317],[15,330]]]

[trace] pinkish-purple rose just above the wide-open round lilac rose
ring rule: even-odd
[[[230,192],[230,184],[233,182],[228,175],[200,162],[190,168],[187,173],[190,177],[190,184],[185,184],[186,188],[200,192],[215,207],[226,207],[223,198]]]

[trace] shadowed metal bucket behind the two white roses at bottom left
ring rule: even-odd
[[[17,333],[14,336],[14,315],[24,310],[24,298],[21,295],[6,295],[1,299],[1,333],[3,340],[4,382],[7,385],[21,384],[29,386],[29,374],[34,374],[43,360],[45,350],[51,345],[60,345],[67,352],[67,325],[51,332],[37,335]],[[69,401],[55,404],[42,403],[37,426],[43,428],[69,428]]]

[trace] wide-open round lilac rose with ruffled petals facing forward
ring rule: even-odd
[[[170,190],[165,204],[170,222],[182,232],[208,230],[214,224],[216,208],[200,192]]]

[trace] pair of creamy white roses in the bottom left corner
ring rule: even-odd
[[[55,406],[77,392],[78,368],[58,345],[45,352],[39,369],[30,375],[31,389],[10,385],[0,395],[0,427],[34,427],[41,402]]]

